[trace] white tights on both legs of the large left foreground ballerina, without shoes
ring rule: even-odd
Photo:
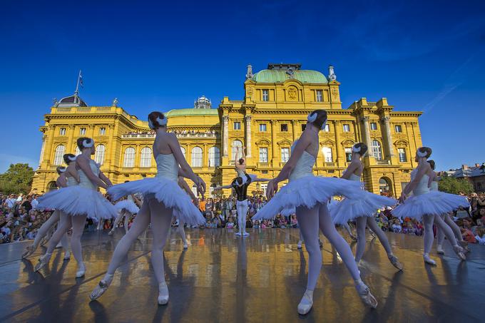
[[[116,269],[120,266],[123,259],[126,257],[128,250],[138,235],[141,235],[151,223],[153,231],[153,245],[151,252],[151,262],[153,271],[158,284],[165,282],[165,272],[163,270],[163,247],[167,241],[168,232],[170,230],[170,222],[172,220],[173,209],[165,207],[155,198],[143,203],[140,212],[136,215],[131,229],[124,235],[116,245],[113,257],[108,266],[108,271],[103,280],[111,282]]]

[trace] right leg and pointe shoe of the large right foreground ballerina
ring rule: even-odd
[[[357,264],[354,261],[354,255],[352,255],[352,250],[350,249],[344,238],[339,235],[337,229],[335,229],[335,225],[332,222],[332,217],[330,217],[327,205],[325,204],[320,205],[319,226],[320,230],[322,230],[322,233],[335,247],[340,257],[342,258],[342,261],[347,266],[347,270],[349,270],[350,275],[352,275],[352,278],[354,279],[355,288],[357,289],[357,292],[359,293],[359,297],[360,299],[362,299],[362,302],[364,302],[364,304],[369,307],[376,308],[377,299],[375,299],[375,297],[370,293],[369,287],[367,287],[367,285],[364,284],[364,282],[362,282],[362,280],[360,279],[359,268],[357,268]]]

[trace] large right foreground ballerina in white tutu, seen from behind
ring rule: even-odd
[[[307,314],[313,305],[313,290],[322,268],[322,252],[318,245],[319,228],[342,257],[354,279],[359,297],[364,304],[375,308],[377,299],[372,296],[369,287],[362,282],[352,250],[335,229],[327,210],[327,202],[333,195],[362,196],[360,183],[313,175],[312,168],[319,150],[318,133],[325,128],[327,112],[315,110],[308,115],[307,121],[300,139],[293,143],[296,145],[290,160],[283,166],[280,174],[267,184],[266,195],[267,198],[272,199],[256,213],[253,219],[269,219],[285,208],[296,208],[298,224],[305,239],[309,259],[307,290],[298,304],[298,313]],[[286,179],[289,183],[275,195],[278,183]]]

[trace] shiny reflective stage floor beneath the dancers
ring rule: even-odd
[[[388,234],[405,266],[397,272],[379,241],[368,237],[360,271],[379,301],[371,310],[362,305],[352,278],[323,239],[315,303],[302,317],[296,309],[305,292],[307,253],[305,247],[297,250],[297,229],[249,230],[245,238],[226,229],[186,232],[188,250],[183,251],[175,231],[165,246],[166,306],[156,302],[150,232],[133,245],[106,294],[91,303],[89,294],[103,277],[123,229],[113,237],[107,232],[84,234],[87,272],[78,280],[76,261],[63,262],[61,250],[48,269],[34,273],[44,248],[22,261],[25,242],[0,245],[0,321],[484,322],[484,246],[472,245],[469,260],[460,262],[446,245],[446,256],[434,254],[437,266],[429,267],[422,260],[422,237]]]

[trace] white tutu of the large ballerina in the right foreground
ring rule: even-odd
[[[283,210],[289,212],[299,206],[312,208],[317,203],[327,203],[333,195],[359,198],[363,192],[362,184],[357,181],[308,175],[282,187],[252,218],[270,219]]]

